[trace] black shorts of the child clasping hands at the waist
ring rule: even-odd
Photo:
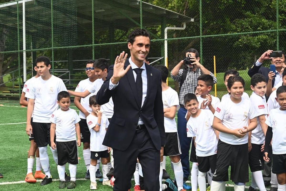
[[[217,165],[212,177],[214,181],[228,180],[228,169],[231,166],[233,182],[248,182],[248,143],[231,145],[219,140],[217,144]]]

